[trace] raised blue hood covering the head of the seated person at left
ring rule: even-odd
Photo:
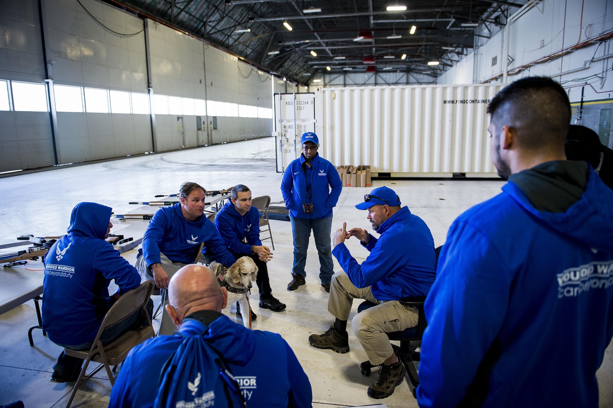
[[[78,203],[70,214],[70,234],[104,240],[109,228],[112,208],[97,203]]]

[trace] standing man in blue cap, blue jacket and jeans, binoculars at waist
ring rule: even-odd
[[[330,292],[334,267],[330,252],[332,208],[337,205],[343,183],[332,163],[317,153],[316,134],[303,134],[300,145],[303,153],[287,166],[281,181],[281,194],[289,210],[294,236],[294,266],[287,290],[296,290],[306,283],[308,239],[313,230],[319,254],[319,279],[326,292]]]

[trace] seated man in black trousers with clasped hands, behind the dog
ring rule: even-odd
[[[251,205],[251,190],[243,184],[238,184],[232,187],[230,194],[230,201],[221,207],[215,216],[215,227],[235,259],[248,256],[256,263],[259,306],[273,312],[281,312],[286,306],[272,295],[266,266],[272,259],[272,252],[262,245],[260,240],[260,213]],[[242,317],[238,302],[236,308],[237,315]],[[253,312],[251,317],[253,319]]]

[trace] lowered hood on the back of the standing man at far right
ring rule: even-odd
[[[592,167],[581,199],[565,213],[536,210],[522,189],[512,181],[502,189],[524,210],[557,232],[590,248],[613,251],[613,190],[603,183]]]

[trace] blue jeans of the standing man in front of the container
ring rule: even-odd
[[[319,254],[319,279],[322,284],[332,281],[334,263],[332,262],[332,246],[330,233],[332,232],[332,216],[327,218],[310,219],[289,216],[292,222],[292,235],[294,236],[294,266],[292,273],[306,277],[305,265],[307,263],[308,239],[313,230],[315,247]]]

